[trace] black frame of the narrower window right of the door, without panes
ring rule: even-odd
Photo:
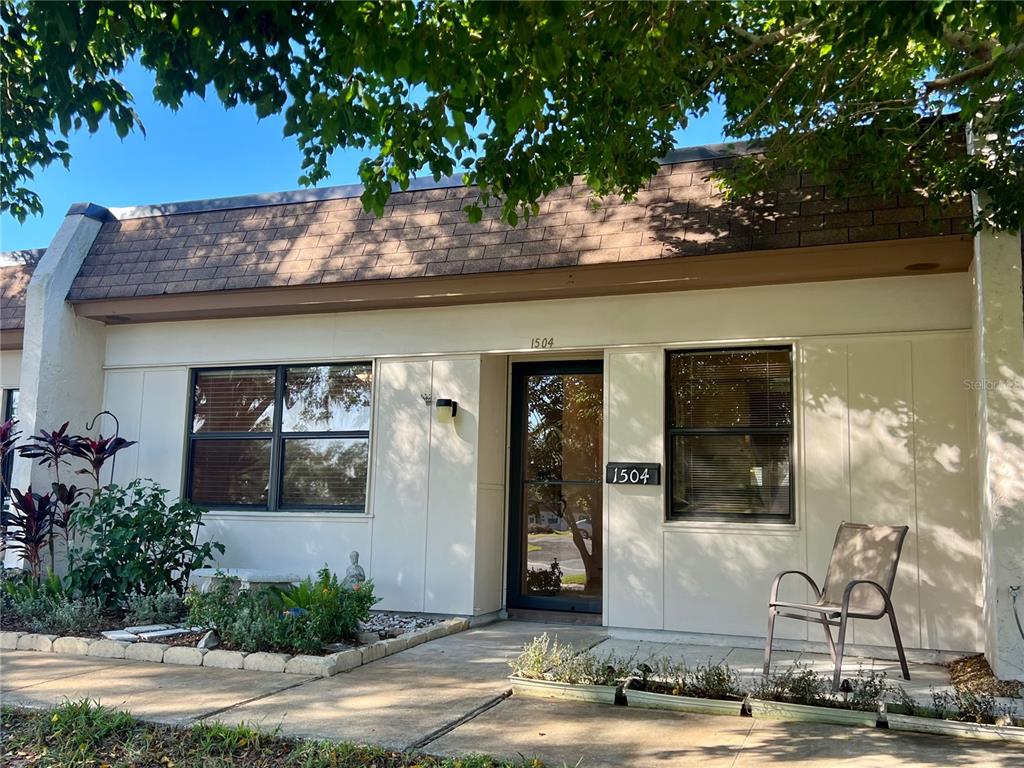
[[[790,354],[790,397],[791,421],[786,427],[673,427],[672,426],[672,358],[677,354],[700,352],[741,352],[741,351],[785,351]],[[794,344],[740,345],[717,347],[685,347],[665,350],[665,519],[667,522],[736,522],[774,523],[795,525],[797,522],[796,483],[796,438],[797,438],[797,390],[796,390],[796,347]],[[781,434],[790,438],[790,514],[773,515],[765,513],[735,514],[730,512],[677,512],[673,505],[673,483],[675,481],[675,437],[686,435],[728,435],[728,434]]]

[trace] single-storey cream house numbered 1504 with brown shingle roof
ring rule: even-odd
[[[842,520],[907,524],[907,646],[1024,677],[1019,237],[807,177],[726,202],[737,151],[514,228],[468,223],[456,181],[380,218],[351,186],[76,205],[24,341],[3,315],[3,386],[29,430],[116,414],[118,479],[208,508],[223,565],[357,551],[385,608],[756,644],[773,575],[820,580]]]

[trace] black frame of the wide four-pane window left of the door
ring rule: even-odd
[[[370,429],[344,430],[344,431],[321,431],[321,432],[284,432],[282,431],[282,419],[284,417],[285,401],[285,380],[286,371],[292,368],[322,368],[322,367],[342,367],[342,366],[366,366],[370,369],[371,389],[370,389]],[[225,373],[228,371],[273,371],[273,423],[269,432],[195,432],[193,431],[196,419],[196,387],[199,377],[202,374]],[[343,512],[347,514],[367,514],[368,502],[370,500],[370,472],[371,472],[371,440],[370,433],[373,431],[373,408],[374,390],[373,382],[376,379],[374,364],[372,360],[335,360],[333,362],[292,362],[289,365],[251,365],[251,366],[213,366],[207,368],[194,368],[188,377],[188,423],[185,439],[186,461],[184,490],[185,499],[193,498],[193,460],[194,446],[196,442],[202,440],[269,440],[270,441],[270,478],[267,487],[266,504],[220,504],[209,502],[195,502],[204,507],[210,507],[214,511],[220,512]],[[281,504],[284,467],[285,467],[285,441],[294,438],[351,438],[366,439],[367,441],[367,486],[364,492],[364,504]]]

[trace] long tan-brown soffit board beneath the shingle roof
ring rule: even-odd
[[[967,271],[971,258],[971,238],[956,234],[551,269],[73,303],[80,316],[102,323],[152,323],[940,274]]]

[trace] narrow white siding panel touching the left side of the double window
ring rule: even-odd
[[[185,369],[146,371],[142,383],[138,476],[181,495],[184,436],[188,419],[188,372]]]

